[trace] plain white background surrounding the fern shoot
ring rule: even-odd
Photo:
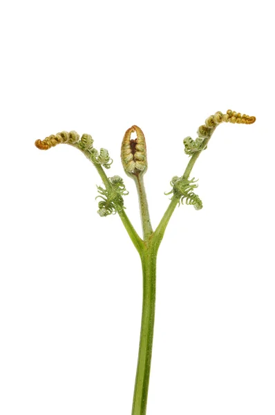
[[[158,258],[148,415],[274,415],[274,18],[269,1],[9,1],[1,6],[2,415],[129,415],[142,276],[119,216],[97,215],[93,165],[57,131],[91,133],[120,164],[147,142],[153,226],[182,139],[228,108]],[[127,214],[140,232],[134,183]]]

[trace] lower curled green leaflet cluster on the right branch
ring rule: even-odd
[[[171,192],[167,192],[165,194],[173,193],[173,195],[178,199],[179,205],[180,203],[183,205],[185,202],[187,205],[193,205],[196,210],[200,210],[202,209],[202,201],[198,195],[193,192],[193,189],[198,187],[196,182],[195,178],[188,180],[187,178],[174,176],[170,182],[173,188]]]

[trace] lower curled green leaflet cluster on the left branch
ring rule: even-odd
[[[113,176],[109,178],[111,187],[104,189],[101,186],[97,186],[99,196],[95,199],[102,199],[98,203],[99,210],[97,213],[99,216],[108,216],[109,214],[115,214],[125,209],[123,197],[127,192],[123,180],[120,176]]]

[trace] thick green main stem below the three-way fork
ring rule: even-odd
[[[155,321],[155,277],[157,251],[153,239],[141,255],[143,274],[142,324],[140,349],[135,378],[132,415],[145,415],[149,389],[151,356],[153,348],[153,327]]]

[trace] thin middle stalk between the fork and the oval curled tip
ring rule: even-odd
[[[138,190],[138,199],[140,202],[140,219],[142,221],[142,232],[144,241],[146,241],[151,236],[151,234],[153,234],[153,229],[149,215],[149,206],[144,187],[143,174],[137,174],[136,176],[133,176],[133,179]]]

